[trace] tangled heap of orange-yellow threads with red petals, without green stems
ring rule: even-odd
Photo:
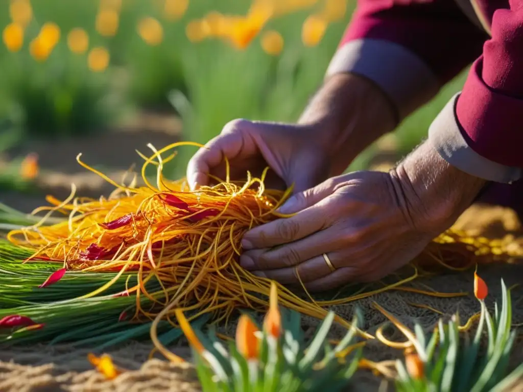
[[[99,200],[75,198],[74,192],[63,202],[48,197],[52,206],[34,212],[48,211],[42,221],[13,230],[8,240],[33,252],[27,262],[56,263],[56,272],[44,286],[68,273],[113,274],[96,290],[71,299],[113,295],[127,276],[121,294],[135,296],[135,302],[133,309],[126,309],[126,319],[154,320],[153,330],[160,320],[176,326],[176,309],[191,313],[191,319],[210,314],[212,322],[226,322],[238,308],[266,310],[270,281],[237,263],[241,239],[254,226],[285,217],[276,210],[291,190],[265,189],[265,171],[259,178],[247,174],[245,182],[230,181],[227,175],[225,181],[215,179],[217,185],[190,191],[184,180],[167,181],[162,175],[163,165],[174,154],[165,159],[161,155],[181,145],[200,146],[175,143],[160,151],[150,146],[154,154],[142,156],[144,187],[132,185],[135,180],[130,186],[119,185],[78,156],[79,164],[111,182],[115,192]],[[157,169],[155,185],[145,176],[150,165]],[[66,219],[46,225],[46,217],[57,212]],[[285,287],[279,289],[283,305],[317,318],[327,314],[324,307],[330,302],[306,301]],[[375,292],[360,291],[356,297],[338,298],[332,304],[355,301]],[[350,326],[340,317],[337,321]],[[152,335],[156,340],[155,331]]]

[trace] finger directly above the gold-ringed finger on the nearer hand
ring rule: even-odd
[[[249,271],[289,268],[322,253],[342,249],[345,243],[344,235],[331,227],[280,247],[246,251],[240,257],[240,264]]]

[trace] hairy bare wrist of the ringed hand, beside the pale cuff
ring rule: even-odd
[[[411,223],[436,235],[456,222],[486,185],[486,180],[449,165],[427,142],[390,174]]]

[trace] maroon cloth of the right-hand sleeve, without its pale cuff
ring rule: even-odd
[[[523,0],[511,0],[492,19],[492,39],[457,100],[463,138],[492,162],[523,168]]]

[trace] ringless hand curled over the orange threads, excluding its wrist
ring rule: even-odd
[[[321,130],[313,125],[237,119],[226,124],[191,158],[187,180],[191,189],[209,185],[209,175],[225,180],[225,157],[231,180],[245,179],[247,171],[261,175],[268,166],[266,186],[294,192],[312,188],[329,176],[328,152],[319,143]]]

